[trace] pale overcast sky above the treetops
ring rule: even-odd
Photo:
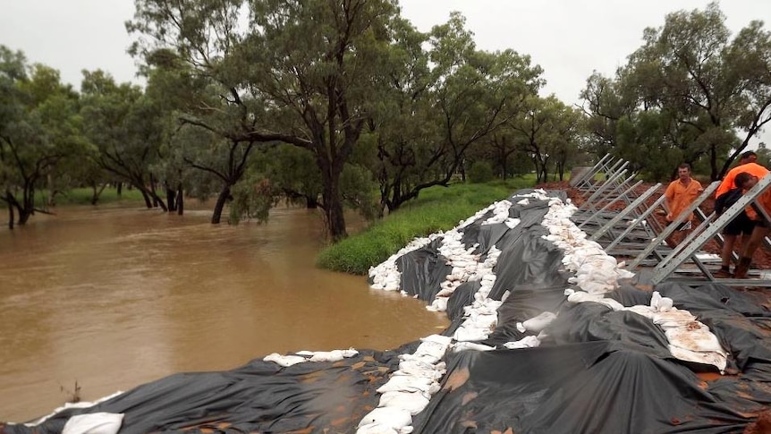
[[[642,44],[646,27],[664,24],[677,10],[703,9],[707,0],[401,0],[402,15],[419,30],[460,11],[486,50],[513,48],[545,70],[546,93],[568,104],[593,70],[612,75]],[[724,0],[720,8],[734,33],[752,20],[771,26],[771,1]],[[101,68],[117,81],[136,81],[126,54],[123,22],[132,0],[0,0],[0,44],[47,64],[80,88],[80,70]],[[768,136],[769,134],[764,134]],[[765,138],[765,137],[764,137]]]

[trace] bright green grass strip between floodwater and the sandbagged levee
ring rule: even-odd
[[[417,200],[371,224],[360,234],[326,247],[318,267],[364,275],[418,236],[446,231],[496,200],[535,184],[535,175],[506,182],[453,184],[421,191]]]

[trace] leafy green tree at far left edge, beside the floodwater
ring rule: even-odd
[[[77,108],[59,72],[0,46],[0,200],[12,229],[17,215],[24,225],[40,210],[36,191],[47,175],[84,146]]]

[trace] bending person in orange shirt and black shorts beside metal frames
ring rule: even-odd
[[[715,191],[715,212],[719,216],[723,214],[726,208],[730,208],[733,202],[741,198],[741,188],[737,188],[734,179],[737,174],[741,172],[747,172],[758,178],[766,176],[768,169],[764,166],[760,166],[755,162],[758,160],[758,154],[749,150],[741,154],[739,160],[739,166],[733,167],[725,174],[723,182],[717,187]],[[734,217],[731,223],[723,228],[723,249],[720,251],[720,270],[716,273],[716,277],[732,277],[731,274],[731,256],[733,255],[733,245],[736,243],[736,239],[742,236],[746,241],[752,234],[752,230],[755,227],[755,222],[747,217],[747,213],[741,211],[741,214]]]

